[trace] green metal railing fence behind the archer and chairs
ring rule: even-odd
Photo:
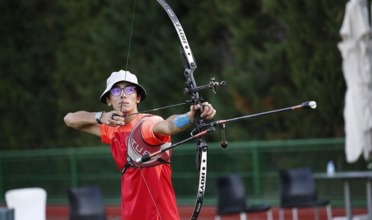
[[[222,151],[219,143],[209,143],[205,204],[215,204],[216,176],[239,173],[246,185],[250,203],[279,204],[278,170],[309,166],[314,173],[326,172],[326,163],[333,160],[337,171],[367,170],[360,159],[348,164],[344,138],[247,141],[229,143]],[[179,204],[193,204],[199,174],[195,169],[195,143],[173,149],[172,183]],[[69,187],[97,184],[108,204],[120,203],[120,171],[110,147],[80,147],[0,151],[0,194],[23,187],[43,187],[49,204],[67,203]],[[341,180],[316,180],[318,197],[331,199],[343,206]],[[329,187],[332,186],[332,187]],[[354,206],[364,206],[365,182],[355,180],[351,191]],[[4,203],[4,197],[0,198]]]

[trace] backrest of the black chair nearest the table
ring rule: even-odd
[[[317,199],[315,181],[309,167],[280,170],[279,185],[282,206]]]

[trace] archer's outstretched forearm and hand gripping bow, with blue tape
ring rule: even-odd
[[[173,135],[179,132],[184,131],[188,128],[194,121],[196,112],[201,108],[200,105],[190,106],[190,111],[181,115],[172,115],[167,119],[160,121],[154,125],[153,131],[155,134],[160,135]],[[216,114],[216,110],[213,109],[212,105],[208,102],[203,103],[203,112],[201,117],[206,120],[210,120]]]

